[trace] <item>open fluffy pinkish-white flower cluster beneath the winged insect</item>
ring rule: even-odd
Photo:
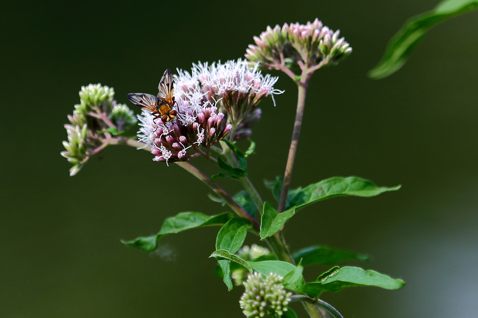
[[[193,64],[191,72],[177,70],[174,98],[177,116],[172,122],[153,120],[145,110],[138,115],[138,139],[151,146],[154,161],[187,161],[209,154],[212,145],[234,127],[234,140],[248,138],[250,126],[261,117],[257,104],[271,94],[281,93],[276,77],[263,76],[258,66],[245,61]]]

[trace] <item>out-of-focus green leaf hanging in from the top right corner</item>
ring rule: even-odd
[[[478,9],[478,0],[445,0],[434,10],[408,19],[402,29],[388,42],[379,64],[369,71],[369,77],[381,79],[398,71],[430,28],[446,19],[475,9]]]

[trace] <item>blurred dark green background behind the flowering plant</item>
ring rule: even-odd
[[[126,103],[129,92],[155,94],[166,68],[242,57],[267,25],[315,17],[340,29],[354,51],[309,85],[292,185],[358,175],[403,186],[304,208],[288,222],[290,246],[367,253],[373,260],[359,266],[407,282],[399,291],[325,294],[346,318],[477,317],[478,12],[432,29],[399,72],[366,77],[405,19],[436,2],[3,3],[0,317],[244,317],[242,287],[227,292],[207,258],[218,228],[164,237],[150,255],[120,243],[155,233],[180,211],[226,208],[181,168],[126,146],[69,177],[59,154],[63,124],[81,85],[113,86]],[[296,103],[293,82],[273,74],[286,92],[275,108],[271,99],[261,103],[249,160],[267,200],[262,180],[283,174]],[[221,185],[239,190],[234,181]]]

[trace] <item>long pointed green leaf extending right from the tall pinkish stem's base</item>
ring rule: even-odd
[[[295,206],[295,211],[297,211],[306,205],[334,196],[370,197],[387,191],[395,191],[400,187],[401,185],[393,187],[377,186],[370,180],[355,176],[331,177],[306,186],[294,196],[290,205]]]

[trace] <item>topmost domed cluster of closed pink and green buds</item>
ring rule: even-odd
[[[249,45],[245,56],[251,62],[260,62],[265,69],[276,70],[280,65],[293,68],[336,64],[352,52],[339,34],[339,30],[330,30],[318,19],[306,25],[297,22],[284,23],[282,28],[268,26],[259,37],[254,37],[256,45]]]

